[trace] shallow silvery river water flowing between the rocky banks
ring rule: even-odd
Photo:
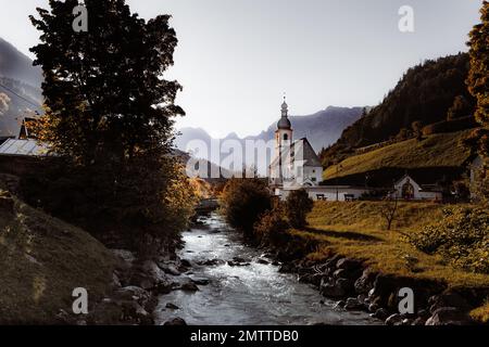
[[[297,275],[278,272],[278,266],[261,264],[259,249],[244,245],[240,235],[215,215],[205,218],[205,228],[185,232],[183,259],[195,265],[191,278],[206,279],[208,285],[190,293],[174,291],[160,297],[156,323],[183,318],[199,325],[283,325],[283,324],[378,324],[365,312],[335,309],[335,301],[316,288],[300,283]],[[249,266],[231,267],[235,257],[250,260]],[[197,266],[210,259],[225,260],[214,266]],[[175,278],[178,279],[177,277]],[[172,303],[178,309],[165,308]]]

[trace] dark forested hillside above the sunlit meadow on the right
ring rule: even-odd
[[[321,153],[324,166],[343,159],[355,149],[402,141],[425,132],[475,127],[475,99],[467,91],[467,53],[441,57],[410,68],[385,100],[348,127],[333,146]]]

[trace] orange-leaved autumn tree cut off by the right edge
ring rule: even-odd
[[[471,48],[471,68],[466,83],[468,90],[477,99],[475,117],[478,123],[489,130],[489,2],[484,1],[480,10],[481,23],[474,26],[469,34],[468,46]],[[486,133],[480,139],[480,153],[485,157],[481,172],[481,187],[489,187],[489,136]],[[482,201],[488,201],[488,194]]]

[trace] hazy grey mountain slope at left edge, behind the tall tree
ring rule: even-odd
[[[41,69],[0,38],[0,138],[18,133],[22,119],[41,112]]]

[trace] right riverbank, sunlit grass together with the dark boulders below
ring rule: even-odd
[[[283,271],[298,273],[346,309],[368,310],[388,324],[471,324],[471,312],[474,318],[486,312],[489,275],[454,269],[404,240],[404,234],[441,218],[441,208],[401,204],[394,230],[386,231],[378,203],[318,202],[309,227],[291,231],[301,252],[275,254],[288,260]],[[290,253],[300,256],[287,259]],[[414,291],[415,314],[399,314],[402,287]]]

